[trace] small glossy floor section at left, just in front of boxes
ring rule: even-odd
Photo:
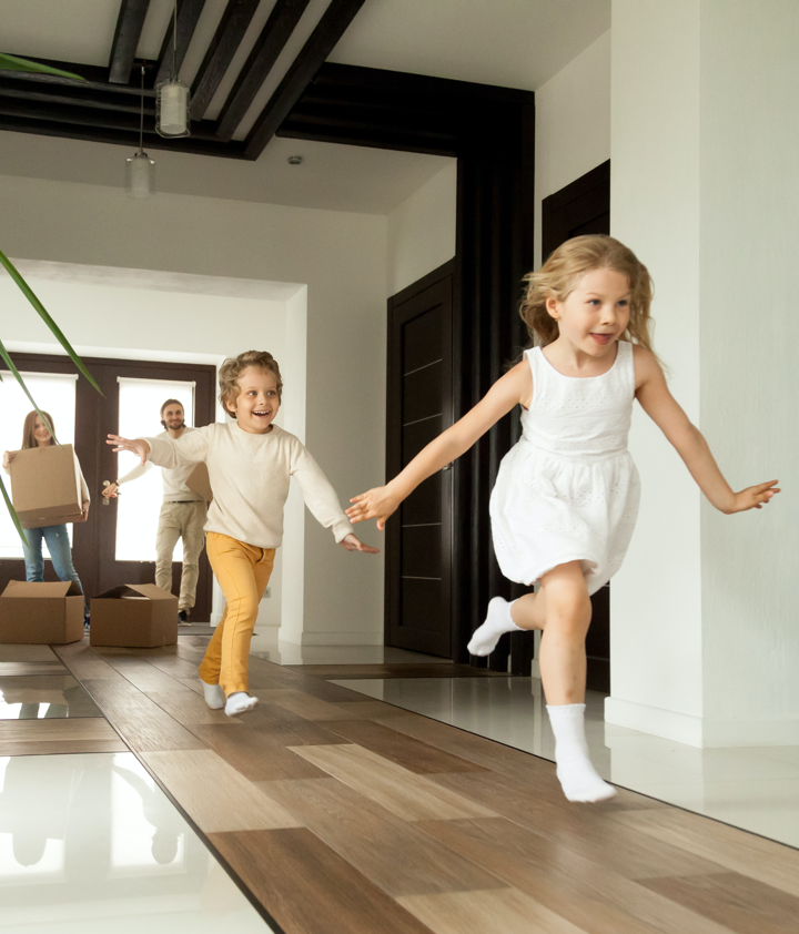
[[[102,717],[94,701],[70,674],[0,677],[0,720]]]

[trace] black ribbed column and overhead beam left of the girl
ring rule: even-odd
[[[533,268],[535,95],[380,69],[325,63],[279,136],[433,153],[457,159],[453,278],[454,417],[488,390],[527,345],[517,314],[522,278]],[[453,467],[453,659],[468,663],[472,632],[488,599],[517,591],[500,573],[488,498],[499,461],[518,438],[514,413]],[[526,647],[530,639],[510,640]],[[514,652],[518,658],[522,650]],[[489,664],[507,670],[502,640]],[[485,660],[474,663],[485,664]],[[518,669],[518,670],[517,670]],[[529,674],[529,664],[512,661]]]

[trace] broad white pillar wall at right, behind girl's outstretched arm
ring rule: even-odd
[[[734,488],[789,479],[799,8],[614,0],[613,22],[611,226],[655,278],[671,389]],[[639,410],[630,446],[644,498],[611,588],[607,719],[798,742],[795,500],[724,516]]]

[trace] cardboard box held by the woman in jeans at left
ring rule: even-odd
[[[81,473],[72,445],[14,451],[9,474],[11,501],[23,529],[82,521]]]

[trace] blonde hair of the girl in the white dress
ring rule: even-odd
[[[530,337],[542,346],[552,344],[558,336],[558,326],[546,308],[547,298],[565,302],[586,273],[594,270],[614,270],[627,276],[630,285],[629,324],[620,336],[651,351],[649,309],[653,300],[653,281],[649,271],[624,243],[603,234],[589,234],[567,240],[555,250],[537,273],[529,273],[524,281],[527,293],[519,314]]]

